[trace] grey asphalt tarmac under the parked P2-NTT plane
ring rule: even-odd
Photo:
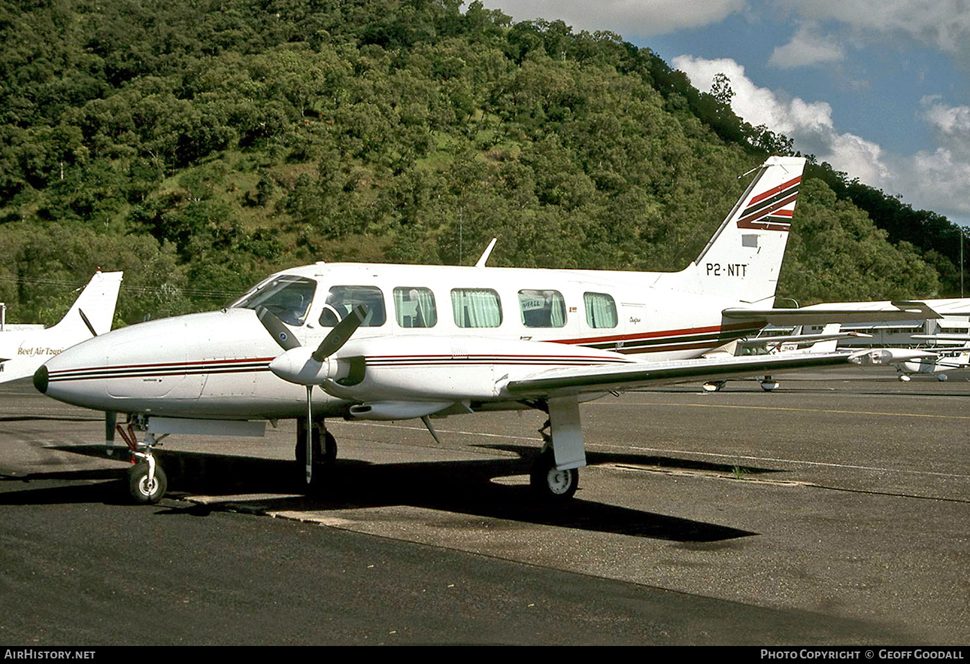
[[[821,378],[584,405],[561,510],[533,412],[329,422],[312,499],[292,422],[170,437],[133,506],[99,413],[0,385],[0,645],[967,644],[970,382]]]

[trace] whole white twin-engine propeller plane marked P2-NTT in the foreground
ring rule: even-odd
[[[309,483],[314,462],[336,455],[326,418],[420,418],[435,435],[431,416],[511,408],[548,413],[533,488],[565,498],[586,465],[583,400],[849,359],[699,357],[768,320],[770,308],[750,309],[771,306],[803,167],[769,158],[679,272],[487,268],[492,245],[475,267],[317,263],[278,272],[221,311],[86,341],[34,383],[145,430],[142,442],[125,434],[145,461],[129,477],[143,502],[164,493],[151,448],[167,433],[259,435],[267,420],[296,418]]]

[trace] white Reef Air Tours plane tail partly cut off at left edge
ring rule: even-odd
[[[0,383],[33,375],[65,348],[112,329],[122,272],[96,271],[57,325],[8,325],[0,303]]]

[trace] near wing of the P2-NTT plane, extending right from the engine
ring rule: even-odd
[[[720,380],[749,375],[758,376],[786,369],[829,368],[858,364],[854,353],[799,353],[730,358],[698,358],[659,363],[568,366],[548,369],[509,381],[505,390],[511,395],[563,396],[622,392],[654,385],[670,385],[689,380]]]

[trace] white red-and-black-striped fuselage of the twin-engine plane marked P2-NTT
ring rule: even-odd
[[[332,394],[315,392],[315,417],[346,416],[363,402],[388,409],[373,415],[380,419],[424,415],[394,410],[414,401],[495,408],[505,382],[543,368],[697,357],[757,329],[723,324],[721,310],[743,302],[680,288],[681,275],[318,263],[278,272],[226,309],[86,341],[50,360],[35,382],[99,410],[301,417],[305,389],[270,370],[281,351],[253,309],[266,306],[315,347],[365,303],[368,321],[340,352],[351,358],[346,375]]]

